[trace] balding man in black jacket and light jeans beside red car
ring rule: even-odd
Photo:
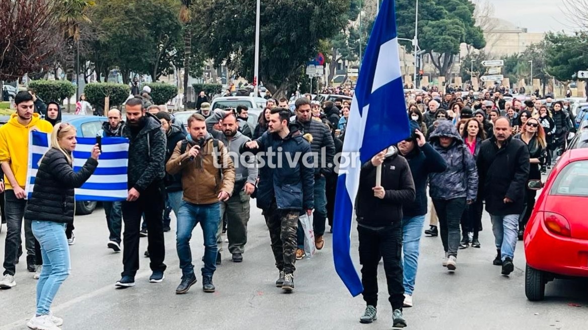
[[[482,196],[490,213],[497,255],[493,264],[502,265],[502,274],[515,270],[513,258],[518,240],[519,215],[524,209],[529,149],[513,139],[510,120],[499,117],[494,136],[482,142],[476,163],[483,185]]]

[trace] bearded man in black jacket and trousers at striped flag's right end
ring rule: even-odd
[[[122,136],[129,139],[129,194],[122,204],[122,217],[125,221],[122,256],[124,270],[121,280],[116,282],[116,287],[119,288],[135,285],[135,275],[139,270],[139,231],[143,214],[149,230],[149,267],[153,271],[149,282],[162,282],[166,268],[163,263],[165,246],[162,221],[165,201],[165,133],[161,129],[161,122],[143,107],[142,99],[129,99],[125,109],[126,126],[123,127]]]

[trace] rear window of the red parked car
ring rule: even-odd
[[[588,160],[567,164],[557,175],[549,194],[588,196]]]

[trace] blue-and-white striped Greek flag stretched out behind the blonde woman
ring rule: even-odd
[[[26,196],[31,198],[39,160],[51,145],[51,134],[32,131],[29,136],[29,165],[26,173]],[[79,171],[91,155],[95,137],[78,137],[74,151],[74,170]],[[122,201],[128,195],[126,170],[129,163],[129,140],[103,137],[102,153],[94,174],[75,190],[78,201]]]

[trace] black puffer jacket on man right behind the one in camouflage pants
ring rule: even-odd
[[[333,142],[333,136],[330,130],[325,124],[312,119],[306,123],[296,120],[296,124],[300,127],[300,133],[302,135],[306,133],[312,135],[310,148],[313,153],[318,154],[317,159],[315,159],[315,177],[320,176],[320,174],[323,174],[325,177],[329,176],[333,171],[333,166],[329,166],[329,164],[333,164],[333,158],[335,157],[335,142]],[[325,151],[322,151],[323,148]],[[323,154],[326,157],[324,166]]]

